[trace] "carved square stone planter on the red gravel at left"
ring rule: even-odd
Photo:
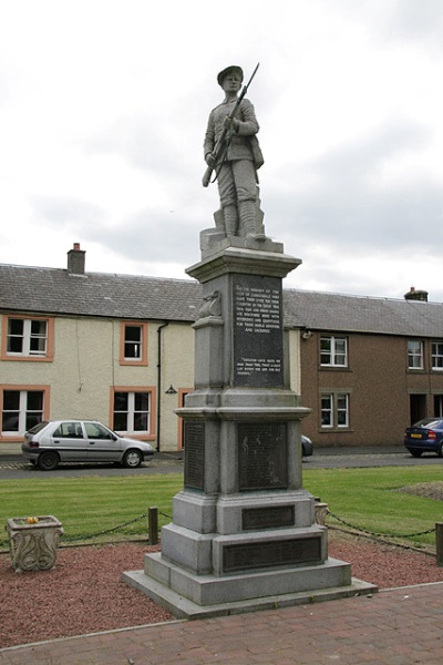
[[[14,571],[47,571],[55,565],[59,539],[63,534],[62,523],[56,518],[10,518],[6,529]]]

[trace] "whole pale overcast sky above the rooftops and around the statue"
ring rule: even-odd
[[[441,0],[0,0],[0,263],[188,278],[239,64],[285,286],[443,301]]]

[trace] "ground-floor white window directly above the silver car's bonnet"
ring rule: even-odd
[[[151,392],[114,392],[114,430],[151,433]]]

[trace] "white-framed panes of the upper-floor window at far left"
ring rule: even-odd
[[[48,323],[48,319],[8,318],[7,355],[45,357]]]

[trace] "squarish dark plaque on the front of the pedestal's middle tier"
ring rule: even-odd
[[[238,424],[238,484],[248,490],[281,490],[288,485],[286,424]]]

